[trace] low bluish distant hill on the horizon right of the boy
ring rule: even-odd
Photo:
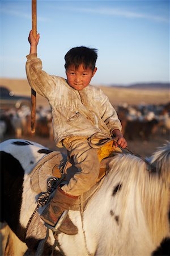
[[[131,84],[128,86],[125,85],[111,85],[112,87],[123,87],[123,88],[132,88],[132,89],[169,89],[170,90],[170,82],[146,82],[146,83],[137,83]]]

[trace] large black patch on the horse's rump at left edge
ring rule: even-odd
[[[22,205],[24,170],[11,154],[1,151],[1,222],[24,241],[25,229],[19,225]]]

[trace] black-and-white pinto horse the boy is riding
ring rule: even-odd
[[[71,221],[78,227],[75,236],[54,236],[40,218],[44,207],[36,211],[26,236],[25,229],[37,207],[29,174],[50,152],[24,139],[1,143],[1,222],[11,230],[8,239],[5,232],[1,236],[10,243],[4,250],[9,246],[13,250],[11,254],[3,251],[3,255],[169,254],[156,254],[156,250],[163,250],[159,247],[163,242],[167,247],[169,243],[170,142],[158,148],[149,162],[124,152],[109,158],[107,174],[95,185],[86,205],[80,200],[79,209],[69,210]]]

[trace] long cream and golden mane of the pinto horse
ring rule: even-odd
[[[117,154],[109,163],[107,186],[111,184],[113,186],[113,181],[115,185],[122,185],[120,193],[123,210],[120,220],[139,223],[142,212],[147,221],[148,231],[155,243],[160,241],[160,237],[166,236],[168,232],[169,146],[170,143],[159,148],[152,156],[152,163],[156,163],[155,173],[148,172],[147,164],[137,156],[130,154]],[[134,209],[132,209],[133,207]],[[129,210],[135,216],[128,218]]]

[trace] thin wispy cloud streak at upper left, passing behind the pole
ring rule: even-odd
[[[17,16],[18,18],[24,18],[29,20],[32,19],[31,14],[23,13],[23,11],[18,11],[18,10],[6,9],[3,7],[0,8],[0,13],[4,13],[11,16]],[[48,21],[48,19],[42,18],[41,16],[37,16],[37,19],[42,22]]]

